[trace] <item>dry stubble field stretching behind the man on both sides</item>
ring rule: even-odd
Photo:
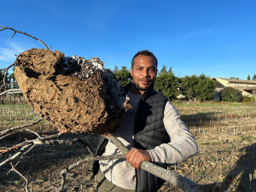
[[[224,191],[256,191],[256,103],[203,102],[173,103],[194,134],[200,152],[169,169],[189,177],[196,183],[224,183]],[[27,104],[0,105],[0,131],[26,125],[38,119]],[[30,127],[39,134],[53,134],[57,129],[45,121]],[[21,131],[0,141],[0,147],[12,146],[34,136]],[[78,137],[71,133],[61,138]],[[98,136],[79,134],[92,148]],[[55,191],[61,178],[59,172],[89,153],[82,144],[39,145],[15,160],[16,169],[28,179],[32,191]],[[8,154],[11,155],[11,154]],[[8,158],[0,155],[0,162]],[[25,191],[24,179],[11,166],[0,167],[0,191]],[[64,191],[94,191],[91,163],[67,174]],[[169,183],[159,191],[180,191]]]

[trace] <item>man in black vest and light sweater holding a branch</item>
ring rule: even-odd
[[[177,109],[166,96],[154,90],[157,59],[148,50],[139,51],[131,61],[132,83],[125,86],[132,108],[113,131],[131,149],[126,160],[100,160],[94,164],[97,191],[154,192],[164,183],[143,171],[144,160],[166,167],[197,153],[195,138],[181,121]],[[101,138],[96,155],[120,154],[113,143]]]

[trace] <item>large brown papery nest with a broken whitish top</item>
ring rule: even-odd
[[[97,57],[29,49],[15,61],[15,79],[26,101],[61,130],[107,134],[124,110],[124,90]]]

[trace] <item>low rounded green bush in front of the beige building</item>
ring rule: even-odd
[[[241,90],[236,90],[231,87],[225,87],[220,95],[224,102],[241,102],[242,100]]]

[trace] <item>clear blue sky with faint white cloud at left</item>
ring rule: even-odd
[[[0,26],[44,41],[65,55],[97,56],[107,68],[131,67],[149,49],[178,77],[247,79],[256,73],[254,0],[9,0],[0,3]],[[0,32],[0,68],[43,44]]]

